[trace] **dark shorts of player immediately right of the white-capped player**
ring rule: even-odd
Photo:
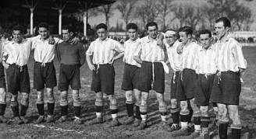
[[[177,99],[193,99],[197,89],[197,74],[194,70],[185,68],[178,76]]]

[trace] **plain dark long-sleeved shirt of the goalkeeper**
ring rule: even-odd
[[[56,53],[60,64],[80,64],[85,62],[85,50],[82,43],[71,45],[63,41],[56,46]]]

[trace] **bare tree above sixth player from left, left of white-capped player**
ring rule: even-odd
[[[140,5],[136,9],[138,19],[142,20],[144,26],[146,23],[153,22],[158,17],[158,10],[156,9],[155,0],[147,0],[143,5]]]

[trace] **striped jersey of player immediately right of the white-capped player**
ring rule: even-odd
[[[197,69],[197,50],[200,48],[200,46],[190,41],[183,47],[183,53],[182,53],[182,69],[189,68],[194,71]]]

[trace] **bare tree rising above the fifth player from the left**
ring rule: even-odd
[[[133,9],[137,4],[137,0],[119,0],[116,5],[116,9],[121,12],[121,18],[124,20],[126,25],[132,20]]]

